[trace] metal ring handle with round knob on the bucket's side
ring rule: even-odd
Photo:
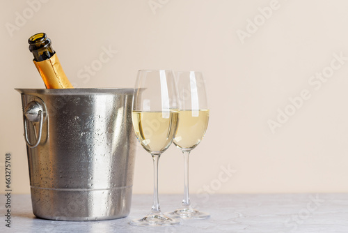
[[[43,122],[46,119],[45,104],[43,103],[40,104],[39,102],[42,102],[42,101],[38,101],[38,100],[31,101],[31,103],[26,105],[26,108],[24,110],[24,115],[23,115],[24,138],[25,138],[26,145],[29,148],[35,148],[40,143],[41,136],[42,136],[42,126],[43,126]],[[36,139],[35,143],[29,142],[27,121],[39,122],[38,138]]]

